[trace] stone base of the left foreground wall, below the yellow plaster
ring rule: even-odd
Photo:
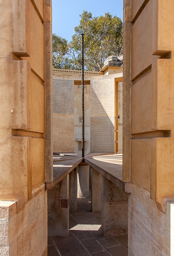
[[[0,255],[47,255],[47,191],[41,185],[17,212],[16,202],[0,201]]]

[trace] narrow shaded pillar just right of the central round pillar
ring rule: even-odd
[[[101,174],[91,167],[91,211],[101,212]]]

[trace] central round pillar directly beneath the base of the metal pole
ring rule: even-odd
[[[81,163],[77,166],[77,197],[89,196],[89,165]]]

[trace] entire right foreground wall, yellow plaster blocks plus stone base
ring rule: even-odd
[[[172,255],[174,3],[124,0],[124,173],[129,255]],[[168,205],[166,210],[166,205]]]

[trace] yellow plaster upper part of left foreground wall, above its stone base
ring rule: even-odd
[[[0,200],[17,201],[18,211],[32,189],[45,182],[45,109],[51,107],[45,105],[51,64],[45,65],[46,47],[51,52],[45,38],[51,26],[44,26],[51,25],[49,2],[1,3]]]

